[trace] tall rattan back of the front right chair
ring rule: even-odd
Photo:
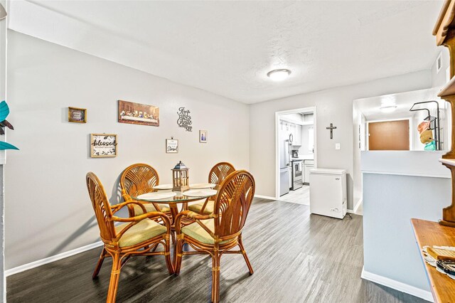
[[[255,179],[248,171],[235,171],[220,185],[215,197],[215,235],[235,237],[242,232],[255,196]]]

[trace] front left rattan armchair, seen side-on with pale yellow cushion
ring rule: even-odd
[[[89,172],[86,176],[87,190],[92,201],[93,210],[100,228],[100,237],[104,243],[100,259],[97,262],[92,278],[95,279],[100,272],[105,257],[112,257],[112,270],[107,291],[106,302],[115,302],[119,285],[120,270],[133,255],[164,255],[166,266],[170,275],[173,274],[171,262],[171,222],[161,212],[147,213],[144,206],[137,201],[126,201],[111,206],[107,200],[105,188],[98,177]],[[119,218],[114,216],[124,206],[137,205],[144,211],[140,216]],[[164,225],[156,223],[154,218],[159,217]],[[122,224],[114,226],[114,222]],[[151,252],[157,245],[164,246],[163,252]]]

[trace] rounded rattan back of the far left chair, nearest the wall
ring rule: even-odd
[[[158,172],[150,165],[138,163],[128,166],[120,177],[120,186],[129,196],[153,191],[159,184]]]

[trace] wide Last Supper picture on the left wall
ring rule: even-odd
[[[159,127],[159,107],[119,100],[119,122]]]

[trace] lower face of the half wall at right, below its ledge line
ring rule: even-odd
[[[367,274],[395,280],[407,285],[407,292],[431,298],[410,219],[439,220],[442,208],[450,204],[450,187],[449,178],[363,174],[363,262]],[[391,286],[400,286],[396,282]]]

